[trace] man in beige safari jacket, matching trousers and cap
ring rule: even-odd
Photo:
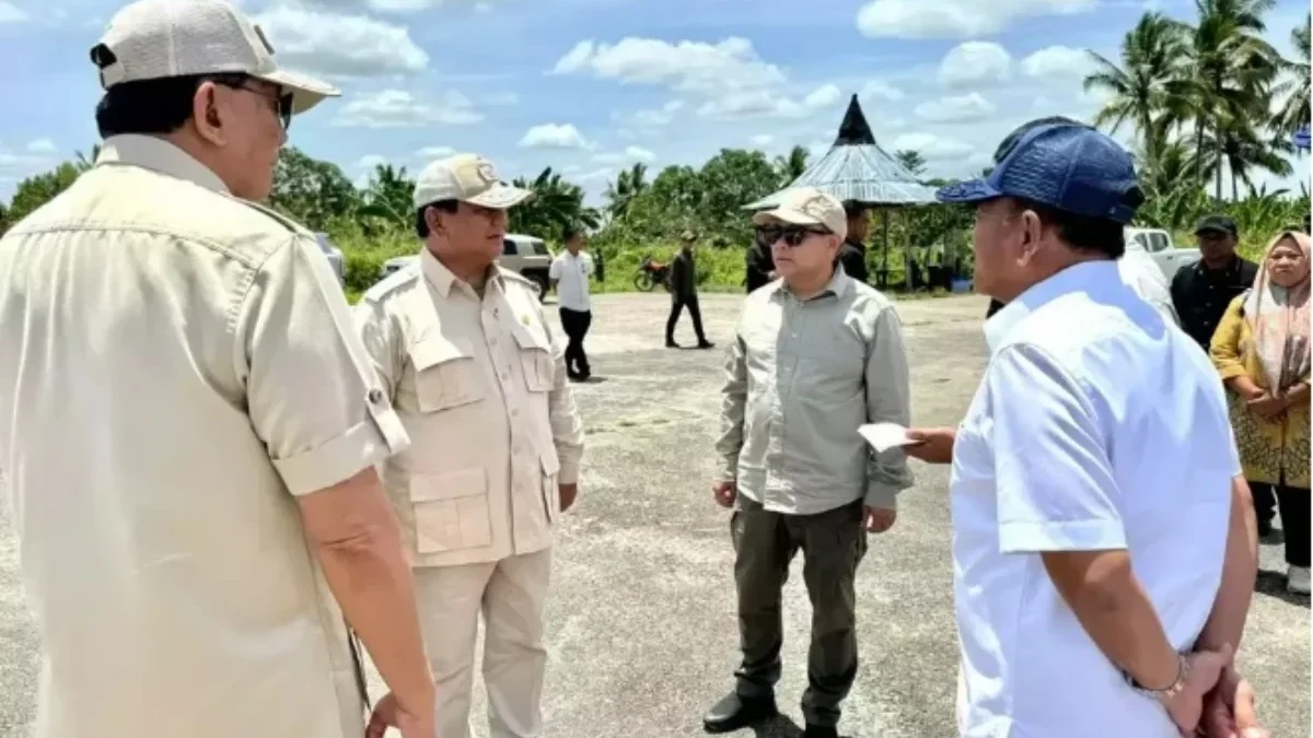
[[[419,259],[356,307],[412,440],[383,482],[408,537],[442,738],[469,735],[481,612],[491,737],[542,734],[542,605],[583,429],[533,284],[495,264],[506,211],[529,196],[473,154],[429,164]]]

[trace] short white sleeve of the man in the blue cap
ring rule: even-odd
[[[1052,356],[1011,345],[985,377],[993,407],[1001,553],[1127,546],[1094,406]]]

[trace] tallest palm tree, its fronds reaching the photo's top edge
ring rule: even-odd
[[[1199,25],[1191,29],[1187,49],[1190,76],[1183,89],[1192,98],[1196,177],[1200,183],[1213,163],[1215,197],[1222,197],[1221,163],[1226,159],[1228,138],[1243,139],[1249,121],[1267,119],[1271,83],[1280,68],[1280,56],[1262,34],[1263,14],[1276,0],[1195,0]],[[1233,130],[1234,129],[1234,130]],[[1233,133],[1228,134],[1229,130]],[[1205,131],[1209,141],[1205,142]],[[1204,146],[1212,144],[1212,156]]]

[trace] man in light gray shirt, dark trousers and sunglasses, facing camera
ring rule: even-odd
[[[867,532],[894,524],[911,486],[901,450],[876,456],[864,423],[907,425],[898,314],[835,265],[843,205],[811,188],[754,217],[781,280],[747,297],[726,358],[716,502],[734,507],[742,666],[734,692],[704,718],[727,733],[773,717],[780,679],[780,590],[802,549],[811,599],[806,738],[834,738],[857,675],[855,578]]]

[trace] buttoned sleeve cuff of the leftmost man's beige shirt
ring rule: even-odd
[[[299,496],[344,482],[408,446],[410,439],[395,412],[370,411],[368,419],[336,439],[272,461],[288,491]]]

